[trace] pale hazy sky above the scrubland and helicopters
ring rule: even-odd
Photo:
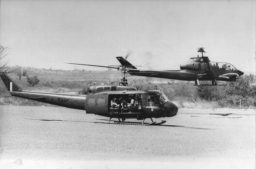
[[[105,70],[64,62],[179,70],[205,47],[211,61],[256,70],[255,0],[1,0],[10,65]]]

